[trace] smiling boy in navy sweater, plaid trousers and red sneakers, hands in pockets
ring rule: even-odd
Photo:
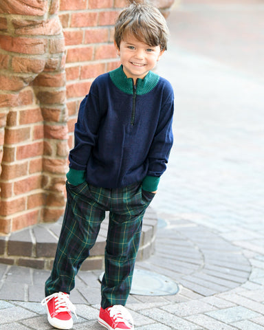
[[[121,66],[102,74],[80,104],[69,153],[67,206],[43,305],[51,325],[72,328],[69,292],[109,210],[101,308],[107,329],[134,329],[124,308],[131,289],[144,212],[173,144],[173,89],[151,72],[166,50],[159,10],[133,3],[115,24]]]

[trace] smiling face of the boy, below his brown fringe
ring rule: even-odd
[[[127,78],[144,78],[155,67],[160,56],[164,53],[159,46],[150,46],[139,41],[133,34],[126,33],[120,43],[120,48],[115,43],[115,48],[120,56],[124,74]]]

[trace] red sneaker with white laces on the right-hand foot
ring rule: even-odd
[[[122,305],[101,307],[98,322],[109,330],[134,330],[133,318]]]

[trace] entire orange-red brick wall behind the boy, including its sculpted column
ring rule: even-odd
[[[166,16],[172,0],[153,0]],[[0,232],[56,221],[80,100],[118,67],[126,0],[0,1]]]

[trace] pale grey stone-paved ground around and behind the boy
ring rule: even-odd
[[[261,330],[264,3],[186,0],[168,21],[159,72],[175,89],[175,144],[153,201],[156,252],[137,268],[180,291],[131,295],[127,307],[140,330]],[[0,274],[0,330],[51,329],[39,304],[48,272],[1,265]],[[78,275],[76,330],[103,329],[98,275]]]

